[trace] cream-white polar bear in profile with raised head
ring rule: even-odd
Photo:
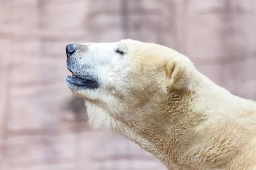
[[[66,53],[67,87],[92,127],[119,132],[169,170],[256,170],[256,102],[214,84],[188,57],[135,40]]]

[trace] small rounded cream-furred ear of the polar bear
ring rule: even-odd
[[[168,90],[192,90],[192,62],[185,57],[175,57],[166,65],[166,87]]]

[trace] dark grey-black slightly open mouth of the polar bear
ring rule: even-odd
[[[70,69],[68,69],[72,76],[66,76],[67,85],[70,87],[78,87],[78,88],[90,88],[95,89],[99,87],[99,82],[93,77],[80,77],[79,75],[73,73]]]

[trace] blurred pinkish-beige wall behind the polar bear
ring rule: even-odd
[[[87,126],[65,85],[69,43],[160,43],[256,100],[255,0],[0,0],[0,24],[0,170],[166,170]]]

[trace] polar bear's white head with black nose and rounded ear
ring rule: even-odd
[[[163,124],[170,95],[191,91],[193,64],[175,50],[135,40],[70,44],[68,88],[84,99],[95,128],[129,133]],[[164,114],[164,113],[163,113]]]

